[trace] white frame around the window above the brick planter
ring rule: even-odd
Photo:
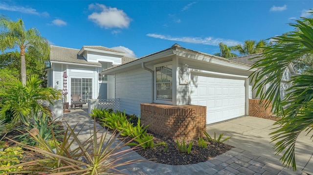
[[[159,99],[156,98],[156,67],[161,67],[161,66],[165,66],[165,65],[172,65],[172,99]],[[175,105],[174,104],[174,98],[176,98],[176,95],[174,95],[174,93],[176,91],[174,91],[175,87],[174,83],[176,83],[175,79],[176,77],[174,77],[176,74],[174,74],[174,72],[176,71],[175,66],[173,65],[173,61],[168,61],[168,62],[163,62],[163,63],[159,63],[159,64],[155,64],[154,65],[154,102],[155,103],[161,103],[161,104],[170,104],[170,105]]]

